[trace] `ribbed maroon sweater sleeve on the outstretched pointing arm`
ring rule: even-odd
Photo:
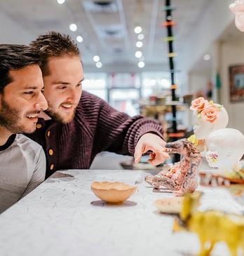
[[[97,102],[93,105],[93,110],[97,109],[96,106]],[[163,128],[153,119],[143,116],[130,117],[128,114],[116,111],[107,102],[99,99],[93,145],[95,153],[111,151],[133,155],[138,140],[145,133],[155,133],[163,137]]]

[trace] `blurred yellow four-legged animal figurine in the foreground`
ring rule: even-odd
[[[225,242],[231,256],[237,256],[241,248],[244,255],[244,216],[224,213],[219,210],[197,209],[201,192],[186,194],[179,213],[180,220],[176,219],[173,231],[186,229],[198,235],[201,249],[199,256],[211,255],[215,243]]]

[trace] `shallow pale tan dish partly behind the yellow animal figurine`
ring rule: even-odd
[[[154,201],[154,206],[161,211],[161,213],[179,213],[182,209],[183,196],[166,197]]]

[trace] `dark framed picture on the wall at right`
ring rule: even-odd
[[[244,100],[244,65],[229,67],[231,102]]]

